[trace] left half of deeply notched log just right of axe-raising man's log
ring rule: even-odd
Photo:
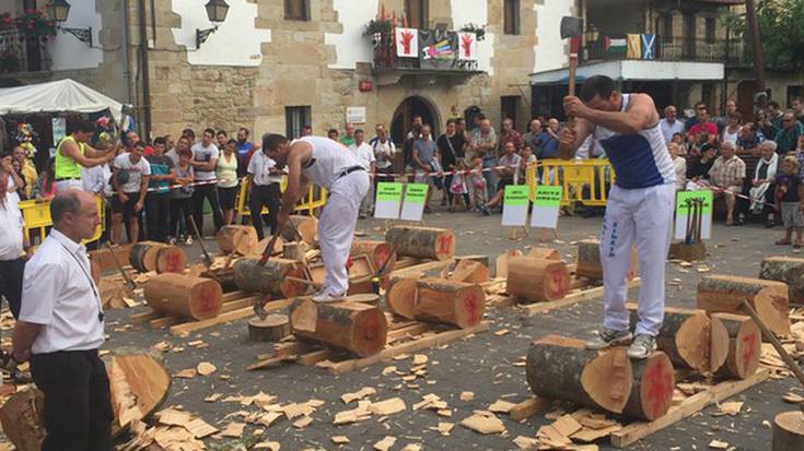
[[[637,322],[637,305],[628,304],[627,307],[631,311],[631,322]],[[664,324],[656,336],[656,346],[667,354],[677,368],[710,371],[710,330],[711,320],[706,311],[666,307]],[[720,361],[716,366],[722,364]]]

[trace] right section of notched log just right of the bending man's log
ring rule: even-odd
[[[413,318],[468,329],[482,321],[486,294],[480,285],[444,278],[416,281]]]

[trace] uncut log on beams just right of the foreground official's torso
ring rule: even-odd
[[[223,305],[221,284],[205,277],[165,273],[151,277],[143,290],[148,306],[160,313],[194,320],[214,318]]]

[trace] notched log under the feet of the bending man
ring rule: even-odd
[[[298,337],[347,349],[361,357],[385,347],[388,324],[382,310],[362,302],[316,304],[298,300],[291,306],[290,325]]]

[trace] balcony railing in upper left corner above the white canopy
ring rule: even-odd
[[[45,43],[16,29],[0,31],[0,73],[39,72],[50,68]]]

